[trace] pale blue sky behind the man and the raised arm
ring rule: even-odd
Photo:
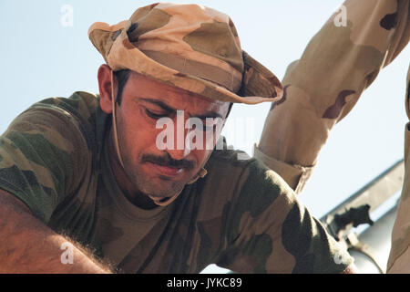
[[[282,78],[309,39],[343,3],[340,0],[179,1],[214,7],[231,16],[242,47]],[[128,19],[149,1],[0,0],[0,132],[37,100],[97,92],[102,57],[87,38],[88,27]],[[61,25],[71,5],[73,26]],[[385,68],[349,116],[333,129],[302,202],[320,217],[403,156],[405,75],[410,49]],[[252,119],[259,140],[270,104],[233,108],[231,120]],[[238,144],[237,141],[229,143]],[[237,145],[235,145],[237,146]],[[246,148],[245,147],[245,148]],[[251,153],[250,153],[251,154]]]

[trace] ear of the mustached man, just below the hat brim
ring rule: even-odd
[[[99,105],[105,113],[112,113],[111,68],[103,64],[98,68]],[[117,96],[117,78],[113,76],[114,96]]]

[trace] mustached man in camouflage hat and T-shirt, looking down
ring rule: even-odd
[[[354,271],[280,176],[218,147],[231,103],[282,97],[229,16],[149,5],[88,35],[99,96],[40,101],[1,137],[1,272]]]

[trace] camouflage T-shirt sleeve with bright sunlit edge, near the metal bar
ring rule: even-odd
[[[226,205],[228,244],[218,266],[238,273],[342,273],[353,263],[277,173],[254,161],[240,181]]]

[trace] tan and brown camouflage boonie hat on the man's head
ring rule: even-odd
[[[153,4],[88,37],[114,71],[131,69],[210,99],[256,104],[282,98],[282,85],[241,50],[231,18],[202,5]]]

